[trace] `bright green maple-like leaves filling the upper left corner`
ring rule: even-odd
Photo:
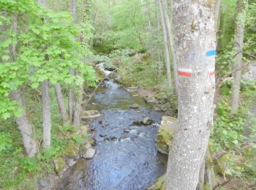
[[[0,1],[4,16],[0,17],[0,117],[20,114],[17,104],[9,98],[10,91],[29,84],[38,88],[44,80],[67,86],[80,86],[85,81],[94,86],[94,69],[81,60],[89,55],[77,39],[86,32],[91,37],[91,26],[75,25],[68,12],[53,12],[36,1]],[[10,48],[12,47],[12,51]],[[80,75],[70,75],[74,69]],[[86,80],[84,79],[86,78]]]

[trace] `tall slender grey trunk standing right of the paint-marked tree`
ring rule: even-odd
[[[232,112],[236,113],[239,105],[239,93],[240,93],[240,80],[241,80],[241,61],[243,57],[243,47],[244,47],[244,25],[246,20],[246,7],[247,0],[237,1],[237,18],[235,26],[235,57],[233,65],[233,84],[232,84],[232,99],[231,107]]]

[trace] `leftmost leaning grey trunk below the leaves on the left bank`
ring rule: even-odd
[[[20,130],[26,153],[29,157],[33,157],[37,154],[37,141],[34,137],[33,126],[26,113],[26,104],[23,100],[23,95],[20,89],[12,91],[10,95],[12,100],[18,102],[20,106],[23,107],[21,116],[15,117],[15,121],[18,125],[18,129]]]

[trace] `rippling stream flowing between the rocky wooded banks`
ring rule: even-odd
[[[129,108],[132,104],[138,109]],[[165,173],[167,157],[157,152],[155,143],[162,113],[113,80],[97,89],[87,109],[101,113],[90,123],[96,154],[91,160],[80,159],[64,175],[59,189],[146,189]],[[146,117],[154,122],[133,124]]]

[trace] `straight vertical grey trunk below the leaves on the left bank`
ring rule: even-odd
[[[42,140],[43,147],[50,147],[50,84],[49,80],[42,82]]]

